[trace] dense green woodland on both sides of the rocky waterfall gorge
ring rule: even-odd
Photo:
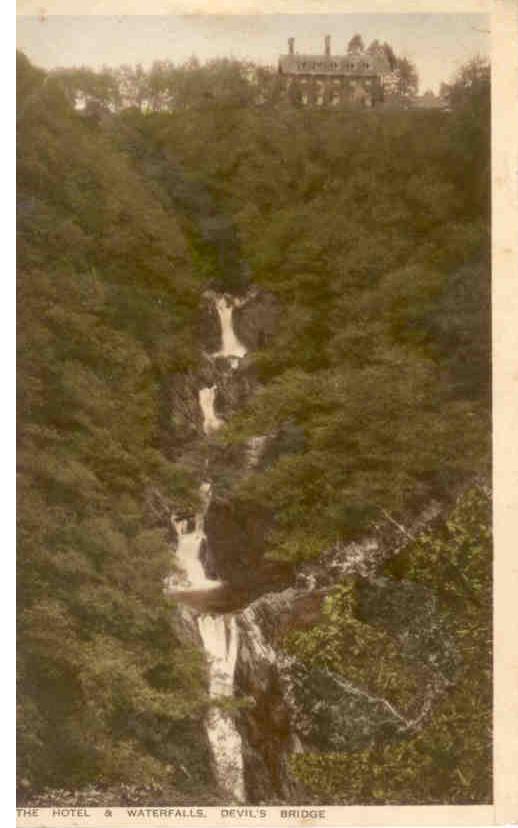
[[[274,514],[272,558],[318,557],[475,487],[392,565],[455,619],[455,693],[403,746],[306,754],[293,772],[322,801],[489,801],[487,65],[452,79],[447,112],[299,108],[233,61],[177,68],[166,107],[114,107],[122,70],[18,69],[22,788],[210,790],[203,659],[162,587],[164,508],[192,509],[199,481],[168,449],[163,390],[199,362],[202,292],[252,282],[280,329],[220,439],[282,435],[268,468],[228,482]],[[154,71],[133,72],[142,100]],[[231,238],[200,230],[200,187]],[[365,667],[382,643],[362,638],[345,584],[286,647],[339,670],[351,636]]]

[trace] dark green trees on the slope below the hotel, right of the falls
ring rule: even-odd
[[[387,44],[372,48],[396,66]],[[194,88],[246,75],[230,64],[182,71]],[[281,306],[276,336],[254,356],[264,387],[224,436],[299,435],[234,492],[274,513],[272,557],[318,555],[487,467],[488,87],[482,70],[470,85],[473,72],[452,84],[451,112],[207,98],[181,117],[137,113],[130,131],[127,118],[113,128],[139,166],[152,155],[157,180],[180,166],[204,182],[233,223],[234,260]],[[229,289],[222,248],[192,247],[200,271]]]

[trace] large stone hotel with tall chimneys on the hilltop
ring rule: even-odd
[[[309,105],[374,107],[383,101],[384,77],[390,67],[381,55],[355,50],[331,54],[326,35],[324,53],[298,54],[288,40],[288,54],[279,57],[283,90],[293,102]]]

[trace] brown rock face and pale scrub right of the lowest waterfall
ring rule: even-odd
[[[427,519],[435,514],[428,510]],[[386,543],[371,537],[331,551],[327,560],[302,566],[294,586],[262,595],[238,615],[236,689],[253,699],[241,713],[251,802],[303,802],[304,791],[288,772],[291,753],[351,751],[399,739],[421,727],[454,679],[458,654],[433,593],[376,575],[377,565],[397,548]],[[410,701],[395,703],[354,677],[308,666],[283,650],[286,633],[322,620],[323,601],[344,574],[355,578],[358,620],[390,635],[414,671]]]

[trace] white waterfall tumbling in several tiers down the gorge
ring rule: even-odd
[[[232,327],[233,303],[226,296],[215,298],[221,321],[223,347],[213,356],[225,357],[231,368],[236,368],[246,354],[246,348],[237,339]],[[215,410],[217,386],[200,388],[198,401],[203,416],[203,431],[210,435],[223,425]],[[260,452],[262,446],[251,447]],[[259,454],[257,455],[259,456]],[[205,516],[210,504],[211,485],[205,481],[200,487],[201,509],[194,518],[194,527],[184,516],[173,515],[171,520],[178,535],[176,561],[181,574],[169,578],[169,589],[177,595],[182,592],[203,592],[221,587],[219,580],[207,578],[200,559],[205,535]],[[202,613],[197,625],[209,664],[209,693],[213,699],[230,698],[234,695],[234,670],[239,648],[239,631],[233,616]],[[243,746],[241,735],[234,720],[224,708],[214,706],[207,717],[207,736],[214,757],[219,780],[238,802],[245,799],[243,770]]]

